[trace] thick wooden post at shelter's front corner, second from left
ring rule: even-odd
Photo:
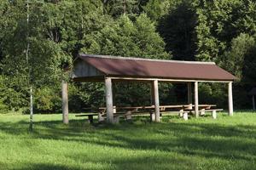
[[[105,93],[107,107],[107,122],[113,123],[113,95],[112,95],[112,80],[109,77],[105,78]]]

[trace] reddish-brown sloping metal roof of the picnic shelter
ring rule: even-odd
[[[140,59],[91,54],[79,54],[79,58],[107,76],[209,81],[234,81],[236,79],[213,62]]]

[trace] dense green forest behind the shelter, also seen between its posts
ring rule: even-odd
[[[72,82],[79,53],[214,61],[239,79],[235,109],[256,86],[254,0],[0,0],[0,111],[61,111],[104,105],[102,83]],[[227,107],[227,87],[200,83],[200,103]],[[115,105],[149,105],[147,84],[117,83]],[[32,91],[30,91],[32,89]],[[160,104],[186,102],[186,86],[160,84]]]

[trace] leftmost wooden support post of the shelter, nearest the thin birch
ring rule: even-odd
[[[67,98],[67,82],[62,80],[62,121],[68,124],[68,98]]]

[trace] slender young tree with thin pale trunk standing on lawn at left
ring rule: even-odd
[[[21,88],[29,89],[31,121],[32,88],[55,82],[65,60],[61,48],[45,38],[44,23],[48,20],[42,17],[43,11],[40,1],[17,0],[9,2],[9,15],[4,15],[8,26],[3,37],[3,73],[22,84]]]

